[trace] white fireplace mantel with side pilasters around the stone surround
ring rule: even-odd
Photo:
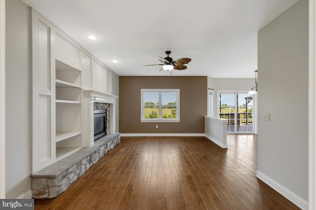
[[[94,103],[110,104],[110,134],[115,133],[115,102],[118,96],[96,90],[82,90],[83,99],[83,147],[94,145]]]

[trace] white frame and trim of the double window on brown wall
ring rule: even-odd
[[[180,122],[180,89],[141,89],[141,122]],[[161,92],[177,92],[177,118],[176,119],[144,119],[144,92],[159,92],[159,107],[161,107]],[[160,112],[161,113],[161,110]]]

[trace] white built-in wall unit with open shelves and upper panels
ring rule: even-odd
[[[112,97],[112,71],[32,9],[32,81],[35,173],[93,145],[93,103],[107,101],[83,91]]]

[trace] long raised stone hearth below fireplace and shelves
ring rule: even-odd
[[[120,133],[104,136],[96,141],[92,147],[83,148],[32,174],[33,198],[58,196],[119,142]]]

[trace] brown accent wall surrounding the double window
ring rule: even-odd
[[[180,89],[180,122],[141,122],[141,89]],[[121,133],[204,133],[206,115],[207,77],[119,77]]]

